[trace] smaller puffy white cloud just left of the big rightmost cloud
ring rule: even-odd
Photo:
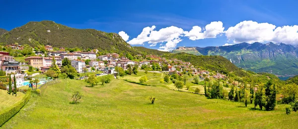
[[[224,33],[223,22],[214,21],[205,26],[205,29],[202,29],[199,26],[193,26],[193,28],[187,32],[185,31],[185,37],[188,37],[190,40],[201,40],[206,38],[216,38],[217,35]]]

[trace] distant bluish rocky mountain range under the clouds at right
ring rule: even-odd
[[[228,46],[177,47],[173,53],[221,55],[236,66],[281,76],[298,75],[298,48],[285,43],[238,43]]]

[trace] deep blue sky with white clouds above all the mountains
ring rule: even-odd
[[[78,29],[124,31],[128,43],[163,50],[240,42],[296,44],[296,5],[296,0],[0,0],[0,28],[52,20]],[[146,27],[148,35],[137,38]]]

